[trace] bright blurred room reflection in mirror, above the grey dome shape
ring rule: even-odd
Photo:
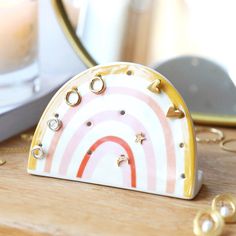
[[[63,0],[69,20],[97,63],[152,66],[197,55],[234,76],[234,0]]]

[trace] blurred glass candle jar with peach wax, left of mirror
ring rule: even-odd
[[[38,90],[37,54],[37,0],[0,0],[0,106]]]

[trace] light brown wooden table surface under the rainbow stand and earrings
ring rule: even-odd
[[[236,130],[221,129],[227,138]],[[32,131],[31,131],[32,132]],[[29,145],[14,137],[1,147]],[[236,153],[199,144],[205,181],[192,201],[27,174],[28,153],[0,153],[0,235],[193,235],[192,221],[216,194],[236,196]],[[236,224],[223,235],[236,235]]]

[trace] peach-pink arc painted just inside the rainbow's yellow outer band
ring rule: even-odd
[[[166,185],[166,192],[167,193],[173,193],[175,191],[175,181],[176,181],[176,157],[175,157],[175,146],[174,146],[174,140],[172,131],[170,128],[170,125],[168,123],[168,120],[160,108],[160,106],[153,100],[150,96],[141,93],[138,90],[126,88],[126,87],[110,87],[106,89],[106,95],[107,94],[124,94],[133,96],[135,98],[138,98],[142,102],[145,102],[147,105],[149,105],[153,111],[155,112],[156,116],[160,120],[160,123],[163,127],[164,137],[165,137],[165,146],[166,146],[166,154],[167,154],[167,185]],[[93,100],[94,98],[97,98],[94,94],[87,94],[83,96],[82,102],[79,105],[79,107],[70,108],[65,116],[62,118],[63,120],[63,126],[66,127],[66,125],[70,122],[70,120],[73,118],[73,116],[76,114],[77,109],[81,109],[84,105],[86,105],[89,101]],[[46,159],[46,165],[45,165],[45,172],[50,172],[51,165],[52,165],[52,158],[54,155],[54,152],[56,150],[56,146],[60,140],[60,137],[62,135],[63,129],[60,132],[56,132],[52,138],[52,142],[49,148],[49,152]]]

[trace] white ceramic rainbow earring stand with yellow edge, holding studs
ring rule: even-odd
[[[161,74],[132,63],[93,67],[56,93],[28,172],[184,199],[202,185],[183,99]]]

